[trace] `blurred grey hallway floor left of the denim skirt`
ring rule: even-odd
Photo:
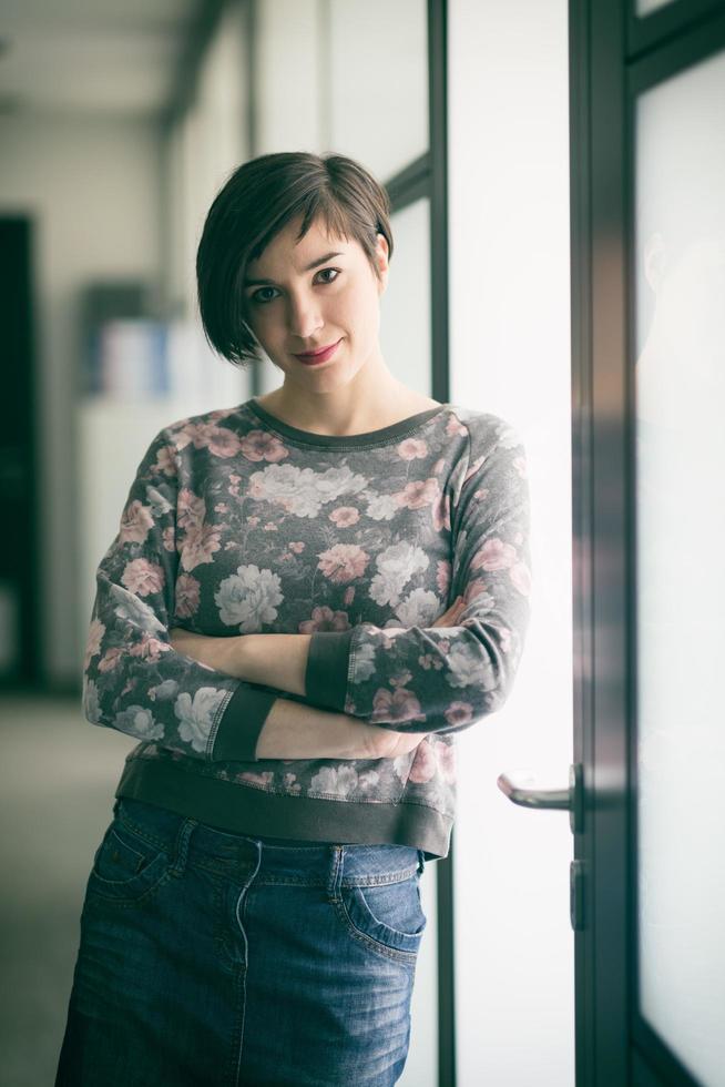
[[[136,741],[73,699],[0,698],[0,1087],[52,1087],[95,849]]]

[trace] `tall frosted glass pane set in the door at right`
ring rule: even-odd
[[[725,54],[636,113],[642,1015],[725,1087]]]

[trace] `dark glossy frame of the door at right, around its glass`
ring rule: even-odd
[[[576,1083],[697,1087],[639,1010],[634,140],[637,95],[725,49],[725,6],[569,12]]]

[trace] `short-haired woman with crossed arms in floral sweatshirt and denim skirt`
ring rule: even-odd
[[[388,1085],[448,854],[455,733],[529,617],[511,427],[397,380],[385,191],[341,155],[228,179],[202,321],[273,393],[165,427],[101,560],[94,724],[141,742],[96,851],[57,1084]]]

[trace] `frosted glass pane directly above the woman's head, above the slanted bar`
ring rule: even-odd
[[[330,149],[387,181],[428,150],[425,0],[327,6]]]

